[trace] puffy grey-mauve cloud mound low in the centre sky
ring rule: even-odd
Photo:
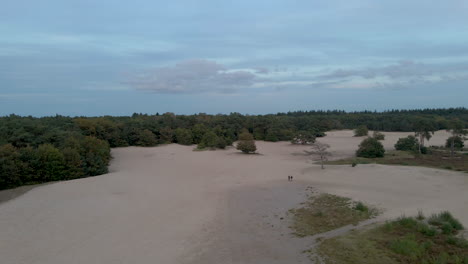
[[[187,60],[174,67],[160,67],[129,81],[137,90],[156,93],[230,93],[249,88],[256,75],[248,71],[229,71],[209,60]]]

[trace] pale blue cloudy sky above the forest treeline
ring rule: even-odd
[[[468,1],[5,0],[0,115],[468,107]]]

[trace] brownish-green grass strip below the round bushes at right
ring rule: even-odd
[[[389,151],[383,158],[349,158],[343,160],[328,161],[329,165],[356,166],[358,164],[385,164],[403,166],[422,166],[446,170],[456,170],[468,172],[468,156],[457,153],[450,157],[447,151],[433,150],[430,154],[419,155],[406,151]]]

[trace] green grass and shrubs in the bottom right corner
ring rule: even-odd
[[[459,223],[448,212],[434,216]],[[450,224],[449,224],[450,225]],[[439,225],[413,217],[401,217],[368,230],[327,239],[317,248],[325,263],[468,263],[468,241],[461,229],[444,232]]]

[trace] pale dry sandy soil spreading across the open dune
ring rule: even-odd
[[[334,158],[362,138],[328,132]],[[385,133],[386,148],[408,133]],[[442,145],[445,132],[429,144]],[[312,188],[384,210],[380,219],[450,210],[468,226],[468,175],[419,167],[321,170],[304,146],[257,142],[261,155],[193,147],[114,149],[106,175],[34,188],[0,204],[5,264],[308,263],[311,239],[292,236],[287,211]],[[288,182],[287,176],[294,181]],[[14,191],[2,192],[8,196]]]

